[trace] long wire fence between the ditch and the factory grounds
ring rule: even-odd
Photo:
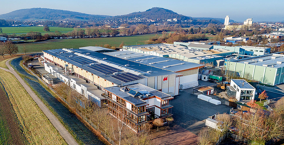
[[[28,69],[25,65],[23,65],[27,70],[29,70],[35,77],[37,77],[37,79],[39,79],[41,82],[43,82],[43,84],[45,84],[51,91],[53,91],[54,93],[56,93],[56,91],[54,91],[54,89],[52,89],[49,85],[47,85],[42,79],[40,79],[40,77],[38,77],[37,75],[35,75],[35,73],[33,73],[30,69]],[[59,96],[59,95],[58,95]],[[64,98],[62,98],[61,96],[59,96],[59,98],[65,102],[68,106],[71,106],[69,104],[69,102],[67,102]],[[72,107],[72,106],[71,106]],[[84,115],[81,114],[81,112],[79,112],[76,109],[76,112],[79,116],[81,116],[90,126],[92,126],[95,130],[97,130],[98,132],[100,132],[100,134],[111,144],[111,145],[116,145],[114,143],[114,141],[112,139],[110,139],[104,132],[102,132],[95,124],[93,124],[93,122],[91,122],[88,118],[86,118]]]

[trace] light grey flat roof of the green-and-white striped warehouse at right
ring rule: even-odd
[[[272,53],[261,56],[253,56],[244,59],[232,60],[231,62],[245,63],[256,66],[271,67],[271,68],[282,68],[284,67],[284,55]]]

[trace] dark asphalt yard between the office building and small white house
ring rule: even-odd
[[[193,89],[180,90],[179,95],[171,100],[172,114],[175,124],[197,135],[201,128],[205,126],[205,119],[217,112],[229,113],[232,107],[227,105],[214,105],[200,100],[192,94]]]

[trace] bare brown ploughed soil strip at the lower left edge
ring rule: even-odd
[[[7,126],[11,133],[11,144],[24,145],[24,135],[18,124],[18,119],[13,106],[3,88],[0,87],[0,108],[3,112],[3,118],[7,121]]]

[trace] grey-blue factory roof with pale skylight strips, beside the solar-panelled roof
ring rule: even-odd
[[[165,57],[153,56],[143,53],[137,53],[132,51],[117,51],[104,53],[121,59],[141,63],[156,68],[161,68],[173,72],[181,72],[184,70],[191,70],[196,68],[202,68],[204,65],[197,63],[185,62],[177,59],[170,59]],[[152,70],[153,71],[153,70]]]

